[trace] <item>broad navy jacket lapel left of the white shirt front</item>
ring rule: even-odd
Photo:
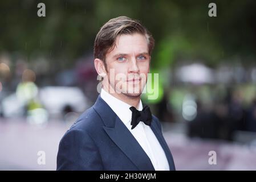
[[[105,126],[105,132],[109,138],[120,148],[121,151],[132,161],[133,164],[143,171],[155,170],[151,160],[145,153],[143,148],[133,137],[131,132],[127,129],[124,123],[113,112],[111,107],[99,96],[95,105],[93,106],[100,115]]]

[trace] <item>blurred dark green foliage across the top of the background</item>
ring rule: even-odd
[[[46,5],[46,17],[37,5]],[[214,1],[217,17],[208,16],[212,1],[1,1],[0,52],[43,56],[52,69],[70,67],[92,52],[100,26],[120,15],[140,19],[156,39],[153,68],[172,66],[181,59],[209,65],[223,60],[255,61],[256,2]],[[54,60],[54,61],[52,61]]]

